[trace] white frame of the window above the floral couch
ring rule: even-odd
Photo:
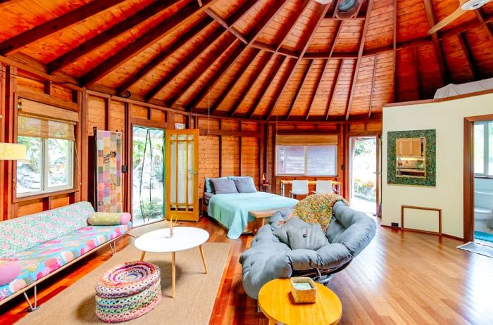
[[[17,172],[15,173],[15,197],[16,198],[28,198],[30,196],[39,196],[46,193],[56,193],[60,191],[66,191],[70,189],[74,189],[74,141],[68,141],[68,184],[61,186],[51,186],[49,187],[49,170],[45,169],[46,166],[49,166],[49,155],[48,155],[48,141],[54,138],[40,138],[39,136],[27,136],[31,138],[37,138],[42,140],[42,179],[41,179],[41,190],[40,191],[31,191],[26,193],[17,193]],[[56,140],[56,139],[55,139]]]

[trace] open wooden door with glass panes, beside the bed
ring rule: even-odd
[[[199,220],[199,130],[166,130],[166,219]]]

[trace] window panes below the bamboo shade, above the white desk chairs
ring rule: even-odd
[[[335,176],[337,146],[276,146],[278,175]]]

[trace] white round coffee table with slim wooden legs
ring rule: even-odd
[[[134,245],[142,250],[141,261],[144,260],[146,252],[171,253],[171,296],[175,298],[176,252],[199,246],[204,269],[208,273],[202,244],[208,240],[209,234],[204,229],[195,227],[175,227],[173,233],[173,237],[170,237],[169,228],[154,230],[137,238]]]

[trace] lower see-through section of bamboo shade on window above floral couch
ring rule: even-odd
[[[74,123],[49,120],[29,115],[18,116],[19,136],[35,136],[37,138],[51,138],[75,141]]]

